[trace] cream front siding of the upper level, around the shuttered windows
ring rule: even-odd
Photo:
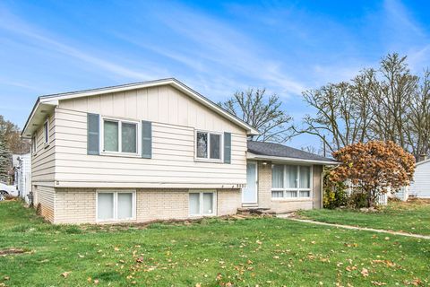
[[[152,121],[152,159],[87,155],[87,112]],[[195,161],[194,127],[232,133],[231,164]],[[244,130],[169,86],[64,100],[56,109],[59,187],[231,188],[246,182],[245,151]]]

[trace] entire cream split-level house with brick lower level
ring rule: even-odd
[[[35,206],[54,223],[148,222],[322,206],[324,164],[275,143],[176,79],[41,96]]]

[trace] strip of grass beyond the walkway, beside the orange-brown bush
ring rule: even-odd
[[[301,211],[298,214],[318,222],[430,235],[430,201],[425,200],[413,200],[407,203],[392,201],[377,213],[314,209]]]

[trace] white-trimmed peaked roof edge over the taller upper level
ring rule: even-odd
[[[160,79],[155,81],[127,83],[127,84],[103,87],[98,89],[90,89],[90,90],[83,90],[83,91],[69,91],[64,93],[56,93],[56,94],[40,96],[36,101],[36,103],[34,104],[34,107],[31,110],[30,116],[27,119],[27,122],[25,123],[24,128],[22,129],[22,136],[30,137],[33,134],[34,130],[40,125],[39,123],[39,121],[41,120],[40,118],[44,118],[43,114],[46,114],[52,111],[55,108],[55,106],[58,104],[59,100],[70,100],[70,99],[76,99],[76,98],[82,98],[82,97],[90,97],[90,96],[118,92],[118,91],[138,90],[138,89],[144,89],[144,88],[160,86],[160,85],[170,85],[172,87],[175,87],[177,90],[184,92],[187,96],[191,97],[193,100],[200,102],[203,106],[207,107],[208,109],[213,110],[221,117],[225,117],[229,121],[236,124],[237,126],[241,126],[242,128],[244,128],[247,135],[259,134],[258,130],[256,130],[253,126],[248,125],[240,118],[230,114],[227,110],[222,109],[213,101],[209,100],[208,98],[202,96],[202,94],[200,94],[199,92],[194,91],[193,89],[185,85],[185,83],[181,83],[175,78],[168,78],[168,79]]]

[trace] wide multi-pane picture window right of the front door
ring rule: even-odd
[[[271,197],[310,197],[311,173],[310,166],[273,164],[271,168]]]

